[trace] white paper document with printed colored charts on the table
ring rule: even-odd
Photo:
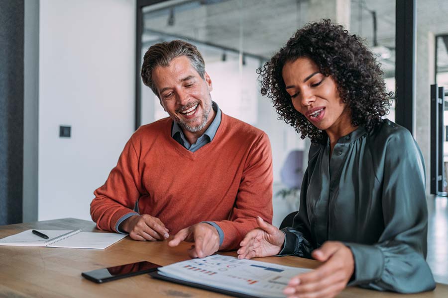
[[[285,297],[289,280],[311,269],[213,255],[158,269],[158,274],[260,298]]]

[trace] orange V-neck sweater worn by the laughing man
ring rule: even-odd
[[[140,127],[127,142],[106,183],[95,190],[90,213],[98,228],[132,212],[159,218],[174,235],[213,221],[224,232],[221,250],[236,249],[256,227],[272,222],[272,155],[267,135],[222,114],[213,141],[190,152],[171,137],[164,118]]]

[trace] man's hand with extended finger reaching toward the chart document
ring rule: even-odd
[[[220,249],[220,236],[211,224],[193,224],[181,229],[174,238],[168,242],[169,246],[177,246],[181,241],[195,242],[188,250],[192,258],[205,258]]]

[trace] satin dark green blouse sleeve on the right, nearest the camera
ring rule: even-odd
[[[353,253],[349,285],[380,291],[417,293],[436,285],[425,261],[428,209],[423,156],[406,131],[388,138],[384,154],[384,231],[374,245],[344,243]]]

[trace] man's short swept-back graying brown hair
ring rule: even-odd
[[[205,77],[204,59],[196,46],[188,42],[182,40],[165,41],[149,47],[146,51],[141,66],[141,78],[155,95],[159,96],[152,79],[152,72],[158,66],[168,66],[173,59],[181,56],[186,56],[198,74],[202,78]]]

